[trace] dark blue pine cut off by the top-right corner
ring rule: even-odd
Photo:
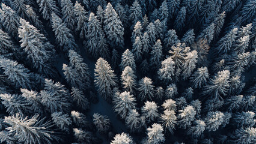
[[[251,23],[255,19],[256,2],[253,0],[246,1],[241,10],[242,23]]]

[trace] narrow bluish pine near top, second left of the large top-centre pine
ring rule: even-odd
[[[76,2],[74,6],[74,14],[76,23],[78,24],[78,26],[76,27],[76,31],[80,32],[79,36],[83,39],[86,37],[85,35],[87,34],[88,12],[84,10],[84,7],[81,4]]]

